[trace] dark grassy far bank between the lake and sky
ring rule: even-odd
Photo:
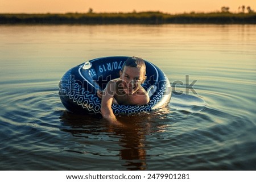
[[[66,13],[0,14],[0,24],[256,24],[256,13]]]

